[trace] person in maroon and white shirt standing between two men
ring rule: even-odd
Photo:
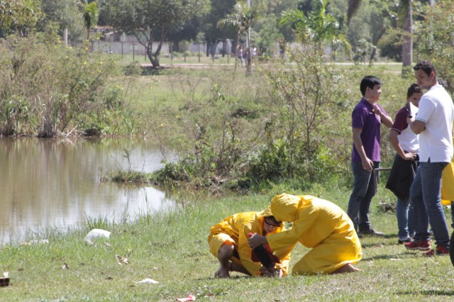
[[[406,118],[416,116],[423,91],[418,84],[411,84],[406,92],[406,104],[397,111],[394,124],[389,131],[389,142],[396,150],[394,163],[386,184],[387,189],[397,196],[398,243],[413,241],[415,224],[410,201],[410,186],[418,169],[418,135],[411,131]]]

